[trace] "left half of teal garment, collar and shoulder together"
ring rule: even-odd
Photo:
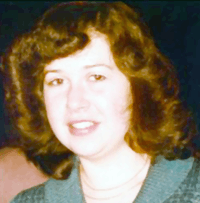
[[[82,192],[77,170],[72,170],[69,178],[48,181],[19,193],[11,203],[81,202]]]

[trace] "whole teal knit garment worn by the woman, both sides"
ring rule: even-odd
[[[11,203],[84,203],[78,162],[67,180],[49,179],[18,194]],[[158,157],[134,203],[200,202],[200,160]]]

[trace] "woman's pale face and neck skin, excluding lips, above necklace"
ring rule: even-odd
[[[149,168],[147,157],[136,154],[124,141],[130,120],[127,107],[133,102],[130,83],[116,66],[106,37],[93,33],[83,51],[52,61],[45,75],[49,123],[60,142],[78,155],[81,179],[95,188],[110,188],[144,168],[138,177],[143,180]],[[99,125],[86,136],[74,136],[67,124],[77,119]]]

